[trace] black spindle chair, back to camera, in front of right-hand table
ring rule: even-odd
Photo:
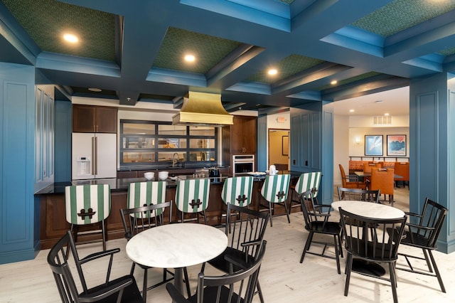
[[[357,216],[344,211],[343,208],[340,208],[339,211],[345,237],[345,248],[348,252],[344,295],[348,296],[350,274],[353,271],[353,258],[355,257],[365,261],[366,266],[368,266],[368,262],[387,263],[389,265],[390,277],[388,278],[370,275],[368,272],[355,272],[390,282],[393,301],[397,302],[395,264],[407,216],[395,219],[375,219]]]

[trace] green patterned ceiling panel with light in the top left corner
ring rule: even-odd
[[[1,1],[41,50],[115,61],[115,15],[54,0]],[[63,41],[65,32],[79,43]]]

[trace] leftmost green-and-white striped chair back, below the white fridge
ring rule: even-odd
[[[111,212],[109,184],[65,187],[65,214],[68,223],[84,225],[105,220]]]

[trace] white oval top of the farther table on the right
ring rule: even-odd
[[[334,201],[332,203],[332,208],[335,211],[338,211],[338,208],[343,208],[345,211],[354,213],[358,216],[364,216],[368,218],[377,218],[377,219],[395,219],[403,218],[405,212],[380,203],[371,203],[364,201]]]

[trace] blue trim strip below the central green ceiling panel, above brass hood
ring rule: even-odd
[[[165,70],[163,68],[151,68],[146,80],[159,83],[207,87],[207,80],[205,80],[204,75],[177,72],[175,70]]]

